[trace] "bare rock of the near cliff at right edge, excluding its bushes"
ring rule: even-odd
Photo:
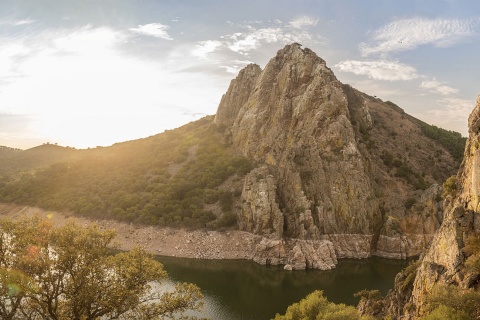
[[[425,312],[428,296],[436,285],[475,288],[478,273],[465,268],[466,239],[480,232],[480,96],[468,119],[469,137],[457,174],[458,191],[445,199],[445,218],[431,245],[418,262],[412,285],[402,286],[397,275],[395,290],[386,298],[386,313],[394,318],[416,319]]]

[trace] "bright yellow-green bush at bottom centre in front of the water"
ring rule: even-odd
[[[275,320],[350,320],[360,319],[360,316],[352,306],[329,302],[320,290],[310,293],[300,302],[294,303],[287,308],[285,315],[277,314]]]

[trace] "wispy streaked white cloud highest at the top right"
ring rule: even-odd
[[[373,32],[370,43],[359,46],[363,56],[412,50],[425,44],[448,47],[478,34],[480,19],[411,18],[391,22]]]

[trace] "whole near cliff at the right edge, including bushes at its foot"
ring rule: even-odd
[[[478,318],[478,289],[480,284],[480,96],[468,119],[469,138],[462,165],[445,199],[445,219],[431,245],[412,266],[407,275],[397,275],[395,290],[386,297],[385,313],[394,318],[417,319],[431,311],[428,303],[438,290],[444,290],[444,304],[459,311],[475,305]],[[406,279],[409,279],[408,281]],[[462,301],[462,297],[472,299]],[[441,292],[441,291],[440,291]],[[451,306],[451,304],[455,304]],[[443,310],[443,314],[445,314]],[[451,309],[450,309],[451,310]],[[470,310],[472,311],[472,310]],[[475,312],[473,312],[475,313]],[[469,318],[464,315],[464,318]]]

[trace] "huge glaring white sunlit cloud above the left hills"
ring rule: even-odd
[[[29,132],[37,140],[25,137],[21,146],[109,145],[178,127],[192,114],[214,113],[224,82],[181,72],[199,65],[185,47],[148,59],[125,48],[130,40],[128,30],[92,26],[0,35],[0,116],[35,115],[28,124],[35,125]],[[164,43],[149,44],[151,51],[154,45]],[[23,133],[7,132],[0,119],[0,145],[20,146]]]

